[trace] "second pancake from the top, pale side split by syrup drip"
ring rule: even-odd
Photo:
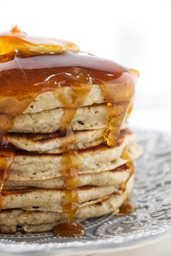
[[[9,131],[14,133],[53,133],[62,128],[63,117],[64,108],[62,107],[17,115]],[[71,123],[72,129],[82,131],[106,128],[107,118],[106,104],[79,107]]]

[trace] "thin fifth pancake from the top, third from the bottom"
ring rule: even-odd
[[[129,176],[130,170],[126,165],[121,165],[114,170],[106,170],[101,173],[88,173],[78,176],[79,186],[115,186],[118,188],[121,183],[125,183]],[[4,189],[28,189],[30,187],[43,188],[43,189],[62,189],[64,181],[62,177],[49,178],[39,181],[35,180],[7,180]]]

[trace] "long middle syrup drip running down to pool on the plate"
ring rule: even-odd
[[[74,73],[74,75],[73,75]],[[62,93],[62,91],[55,90],[54,93],[57,99],[64,105],[64,117],[62,120],[62,131],[67,136],[67,143],[63,146],[66,154],[63,157],[62,177],[64,180],[64,202],[63,212],[67,215],[67,222],[60,223],[54,228],[54,236],[83,236],[85,234],[84,228],[78,223],[75,223],[74,215],[79,208],[78,203],[78,172],[81,165],[79,154],[75,149],[75,133],[72,131],[72,120],[91,90],[92,82],[88,75],[76,68],[72,73],[67,73],[66,84],[70,84],[70,95]],[[64,86],[64,83],[62,84]],[[59,83],[59,88],[61,84]]]

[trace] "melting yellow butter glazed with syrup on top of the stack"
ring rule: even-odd
[[[79,51],[78,46],[70,42],[48,38],[28,38],[26,33],[14,26],[9,33],[1,34],[0,62],[10,61],[16,56],[61,54],[65,50]]]

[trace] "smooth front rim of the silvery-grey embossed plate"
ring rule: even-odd
[[[114,244],[112,241],[114,238],[109,238],[109,239],[98,239],[98,241],[67,241],[63,242],[61,244],[59,243],[43,243],[43,244],[28,244],[27,242],[21,242],[20,244],[10,244],[10,243],[5,243],[2,244],[0,240],[0,255],[1,253],[12,253],[13,255],[19,255],[25,253],[41,253],[41,252],[49,252],[49,253],[54,253],[54,252],[71,252],[71,249],[78,249],[78,252],[86,252],[91,250],[91,252],[96,252],[99,249],[108,249],[112,250],[112,252],[119,252],[127,248],[135,248],[135,247],[140,247],[145,244],[151,244],[155,243],[161,239],[166,239],[167,236],[171,236],[171,227],[168,227],[167,230],[159,233],[159,234],[154,234],[151,235],[151,237],[146,236],[146,237],[141,237],[136,240],[130,240],[130,241],[125,241],[124,243],[117,243]],[[79,247],[77,247],[79,245]],[[97,247],[98,246],[98,247]],[[15,249],[15,251],[14,251]]]

